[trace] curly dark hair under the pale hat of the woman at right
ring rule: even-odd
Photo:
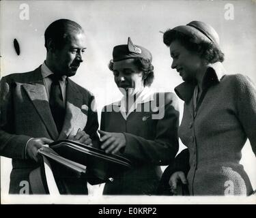
[[[169,47],[171,42],[178,40],[186,49],[197,52],[202,59],[208,63],[223,62],[225,55],[215,43],[201,42],[199,44],[194,42],[193,36],[186,35],[179,31],[169,29],[163,35],[164,43]]]

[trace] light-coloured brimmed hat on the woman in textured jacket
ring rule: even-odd
[[[214,42],[216,45],[219,45],[220,43],[218,33],[212,26],[205,22],[194,20],[189,22],[186,26],[174,27],[173,30],[193,36],[195,43]]]

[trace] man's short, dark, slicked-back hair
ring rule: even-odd
[[[44,32],[44,46],[48,51],[48,40],[53,40],[55,48],[61,48],[66,44],[70,33],[83,33],[83,28],[72,20],[59,19],[51,23]]]

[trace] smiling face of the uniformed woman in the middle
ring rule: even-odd
[[[143,88],[143,72],[134,64],[134,59],[115,61],[113,63],[115,83],[123,95],[135,95]]]

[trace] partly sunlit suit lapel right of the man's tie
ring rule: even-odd
[[[76,89],[76,84],[67,78],[68,84],[66,89],[66,116],[63,123],[63,128],[59,134],[59,139],[67,138],[72,129],[76,127],[77,118],[81,113],[81,106],[83,104],[83,96],[81,92]]]

